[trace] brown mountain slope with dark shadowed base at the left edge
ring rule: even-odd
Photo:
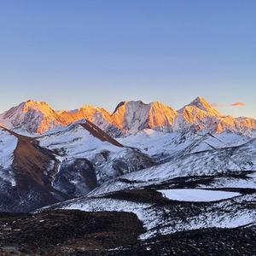
[[[12,164],[7,168],[12,173],[13,182],[1,180],[2,211],[26,212],[44,206],[45,202],[54,203],[69,198],[51,186],[52,177],[58,170],[55,154],[41,148],[32,137],[4,131],[16,137],[17,144],[12,154]]]

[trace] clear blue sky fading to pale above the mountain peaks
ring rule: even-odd
[[[0,0],[0,112],[204,96],[256,118],[255,13],[254,0]]]

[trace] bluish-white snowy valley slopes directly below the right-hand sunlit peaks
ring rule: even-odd
[[[247,143],[251,138],[230,131],[200,135],[193,132],[166,133],[145,129],[134,135],[118,138],[118,141],[143,152],[165,159],[178,153],[198,152],[213,148],[226,148]]]

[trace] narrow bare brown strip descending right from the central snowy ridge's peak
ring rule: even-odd
[[[118,141],[116,141],[115,139],[113,139],[113,137],[110,137],[106,132],[102,131],[102,129],[100,129],[99,127],[97,127],[96,125],[92,124],[90,121],[86,120],[85,123],[80,124],[82,127],[84,127],[84,129],[86,129],[87,131],[90,132],[90,134],[96,138],[98,138],[99,140],[101,140],[102,142],[108,142],[113,144],[114,146],[123,148],[124,146],[119,143]]]

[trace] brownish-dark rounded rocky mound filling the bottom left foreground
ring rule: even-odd
[[[143,231],[128,212],[1,213],[0,255],[101,255],[137,243]]]

